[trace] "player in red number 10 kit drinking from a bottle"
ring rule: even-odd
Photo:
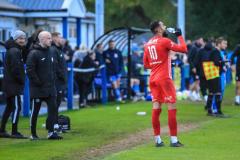
[[[174,32],[180,44],[176,44],[169,38],[164,37],[166,26],[161,21],[154,21],[150,25],[154,36],[144,46],[144,67],[151,69],[150,90],[152,93],[152,127],[155,135],[156,147],[164,145],[160,129],[159,116],[161,106],[166,103],[168,106],[168,126],[170,130],[170,146],[181,147],[177,138],[176,120],[176,90],[172,81],[170,51],[187,52],[187,46],[182,37],[180,29]]]

